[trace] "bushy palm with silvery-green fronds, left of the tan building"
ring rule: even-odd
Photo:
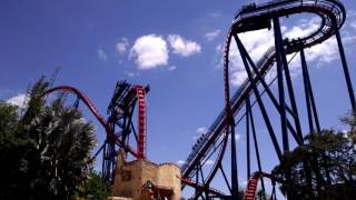
[[[76,186],[86,180],[95,146],[95,127],[87,123],[75,108],[66,108],[62,99],[44,109],[31,127],[40,136],[37,142],[40,168],[38,187],[47,186],[49,194],[71,197]]]

